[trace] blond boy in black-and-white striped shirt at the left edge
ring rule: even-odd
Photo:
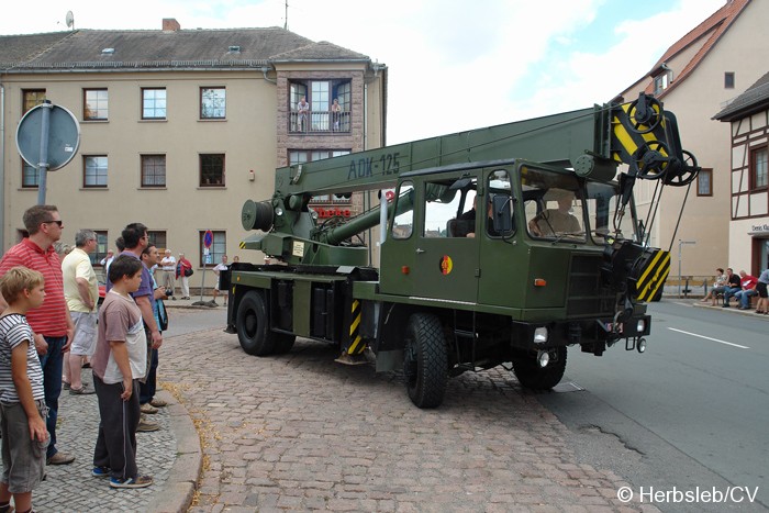
[[[43,370],[26,312],[45,299],[43,275],[16,266],[0,278],[8,308],[0,316],[0,513],[32,511],[32,490],[45,475],[48,431]]]

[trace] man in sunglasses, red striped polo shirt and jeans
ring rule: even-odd
[[[54,243],[62,238],[64,221],[58,209],[51,204],[34,205],[24,212],[24,227],[30,234],[10,248],[0,260],[0,276],[14,266],[24,266],[43,274],[45,301],[38,309],[30,310],[26,320],[35,334],[35,348],[43,367],[45,404],[48,406],[46,427],[51,442],[46,451],[47,465],[68,465],[75,456],[56,447],[56,420],[58,398],[62,394],[64,354],[69,350],[75,326],[64,299],[62,261]],[[0,297],[0,313],[8,308]]]

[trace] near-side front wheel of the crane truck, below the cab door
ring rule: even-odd
[[[415,313],[405,328],[403,373],[409,398],[419,408],[437,408],[448,381],[446,341],[441,320]]]

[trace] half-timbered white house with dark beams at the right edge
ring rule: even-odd
[[[769,73],[714,119],[732,133],[729,261],[758,276],[769,267]]]

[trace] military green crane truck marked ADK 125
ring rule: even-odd
[[[699,169],[675,115],[645,94],[279,168],[272,198],[242,210],[257,232],[241,248],[274,264],[232,266],[226,331],[249,355],[287,353],[299,336],[402,371],[419,408],[441,405],[450,377],[499,365],[553,388],[568,346],[644,352],[645,302],[670,268],[670,248],[648,243],[656,202]],[[656,183],[639,220],[644,179]],[[392,187],[349,221],[310,207]],[[378,268],[360,237],[377,225]]]

